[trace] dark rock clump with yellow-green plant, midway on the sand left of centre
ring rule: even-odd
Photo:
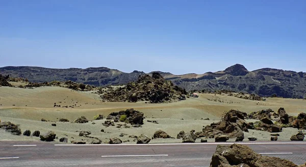
[[[120,112],[113,112],[106,118],[107,120],[114,120],[115,122],[128,122],[132,125],[142,125],[143,124],[143,113],[138,110],[126,109]]]

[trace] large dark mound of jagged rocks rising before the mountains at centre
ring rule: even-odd
[[[157,72],[152,76],[146,74],[139,76],[137,81],[129,82],[125,87],[113,89],[102,95],[106,101],[137,102],[149,101],[151,103],[162,103],[171,99],[182,100],[186,95],[185,89],[174,86],[169,80],[165,80]]]

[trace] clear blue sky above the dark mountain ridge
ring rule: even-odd
[[[306,71],[306,1],[0,1],[0,66]]]

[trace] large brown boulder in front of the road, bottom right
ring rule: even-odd
[[[276,157],[262,156],[248,146],[234,144],[218,145],[213,154],[210,167],[249,166],[249,167],[297,167],[293,162]]]

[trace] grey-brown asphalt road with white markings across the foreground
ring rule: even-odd
[[[209,166],[217,144],[55,145],[0,142],[0,166]],[[306,162],[306,142],[243,142],[258,153]]]

